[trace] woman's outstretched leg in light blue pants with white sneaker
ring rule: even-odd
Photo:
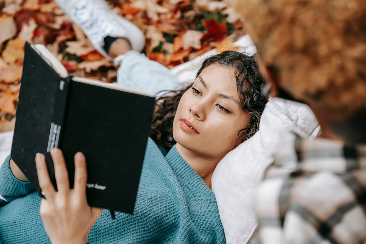
[[[98,52],[120,64],[118,84],[152,95],[181,88],[178,78],[165,66],[139,53],[145,36],[137,26],[114,14],[104,0],[55,1],[81,27]]]

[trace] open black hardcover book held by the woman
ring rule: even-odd
[[[57,71],[57,72],[56,72]],[[90,206],[133,213],[155,99],[118,85],[70,77],[43,45],[25,45],[11,158],[41,194],[35,155],[63,151],[70,186],[74,155],[87,164]]]

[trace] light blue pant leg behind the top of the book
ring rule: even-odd
[[[182,82],[165,66],[137,51],[127,52],[123,56],[117,71],[117,83],[152,95],[162,90],[182,88]]]

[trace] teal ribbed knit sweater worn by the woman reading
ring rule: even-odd
[[[0,242],[50,243],[39,214],[41,198],[29,182],[0,169]],[[1,203],[0,203],[1,204]],[[164,157],[150,138],[134,214],[104,210],[91,229],[89,243],[225,243],[212,191],[175,147]]]

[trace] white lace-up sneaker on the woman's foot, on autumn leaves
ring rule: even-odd
[[[107,57],[104,37],[123,37],[130,41],[133,50],[141,52],[145,46],[142,31],[113,13],[105,0],[55,0],[57,5],[83,30],[94,48]]]

